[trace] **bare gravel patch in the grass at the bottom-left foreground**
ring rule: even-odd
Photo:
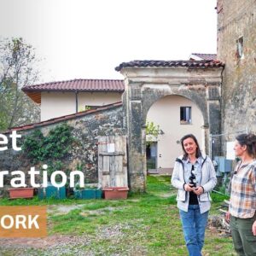
[[[146,255],[146,249],[136,245],[126,245],[120,253],[116,251],[116,245],[124,244],[123,230],[134,229],[131,224],[118,224],[107,226],[96,231],[97,236],[47,236],[45,238],[2,238],[0,239],[0,255]],[[138,236],[136,232],[135,236]],[[102,241],[110,241],[108,248]]]

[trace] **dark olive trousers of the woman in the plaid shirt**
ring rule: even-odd
[[[252,226],[256,219],[230,218],[230,230],[236,253],[240,256],[256,256],[256,236],[253,236]]]

